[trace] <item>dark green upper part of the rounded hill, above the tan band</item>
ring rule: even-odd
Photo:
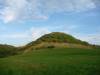
[[[62,32],[52,32],[50,34],[46,34],[39,39],[37,39],[35,42],[31,42],[29,44],[34,44],[34,43],[41,43],[41,42],[54,42],[54,43],[74,43],[74,44],[83,44],[83,45],[88,45],[87,42],[81,41],[76,39],[75,37],[65,34]]]

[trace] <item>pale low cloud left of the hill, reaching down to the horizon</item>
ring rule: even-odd
[[[0,39],[2,40],[0,42],[15,46],[21,46],[31,41],[35,41],[36,39],[47,33],[50,33],[48,28],[31,27],[27,31],[21,33],[11,32],[9,34],[1,34]]]

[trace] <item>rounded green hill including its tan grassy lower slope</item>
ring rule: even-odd
[[[38,49],[38,48],[54,48],[54,47],[68,47],[68,48],[90,48],[90,44],[85,41],[76,39],[75,37],[62,33],[52,32],[43,35],[36,41],[27,44],[23,49]]]

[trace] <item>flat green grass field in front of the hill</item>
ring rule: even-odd
[[[0,58],[0,75],[100,75],[100,50],[41,49]]]

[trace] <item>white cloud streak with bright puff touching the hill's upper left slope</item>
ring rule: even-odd
[[[7,39],[30,39],[36,40],[37,38],[41,37],[44,34],[49,33],[50,31],[47,28],[35,28],[32,27],[28,31],[24,31],[21,33],[10,33],[10,34],[2,34],[0,38],[7,38]]]

